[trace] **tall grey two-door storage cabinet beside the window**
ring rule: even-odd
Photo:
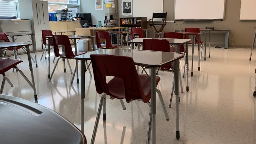
[[[48,2],[38,0],[19,0],[21,19],[31,19],[33,43],[36,51],[42,51],[42,31],[49,30]]]

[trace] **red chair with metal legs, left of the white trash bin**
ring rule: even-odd
[[[62,46],[65,47],[65,52],[63,52],[63,53],[59,52],[59,47],[58,47],[59,45],[62,45]],[[51,81],[51,79],[53,77],[53,73],[54,73],[54,71],[57,67],[58,61],[60,59],[67,59],[70,72],[72,73],[72,70],[71,70],[68,59],[74,59],[74,57],[75,57],[75,51],[72,50],[72,47],[71,47],[71,44],[70,44],[70,41],[69,41],[69,37],[67,35],[53,35],[53,49],[54,49],[55,56],[59,57],[59,58],[57,59],[57,62],[55,64],[54,68],[53,68],[53,72],[51,74],[51,77],[50,77],[49,81]],[[86,52],[77,51],[77,55],[81,55],[81,54],[84,54],[84,53],[86,53]],[[65,61],[64,61],[64,72],[66,72]],[[76,66],[75,66],[73,78],[70,82],[71,85],[73,84],[75,72],[76,72]]]

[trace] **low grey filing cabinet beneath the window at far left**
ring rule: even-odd
[[[26,20],[0,20],[0,31],[32,33],[31,21],[27,19]],[[8,36],[8,38],[10,41],[12,41],[10,36]],[[15,41],[32,43],[32,40],[27,35],[18,36]],[[19,53],[24,53],[22,49],[19,49],[18,51]],[[30,51],[33,51],[33,45],[30,46]],[[12,51],[6,51],[6,56],[11,56],[11,55],[13,55]]]

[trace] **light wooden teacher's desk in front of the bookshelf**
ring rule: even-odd
[[[92,28],[75,28],[76,31],[76,35],[92,35],[92,36],[96,36],[96,31],[109,31],[109,30],[117,30],[121,31],[121,29],[123,29],[124,27],[112,27],[112,28],[107,28],[107,27],[92,27]],[[96,42],[96,38],[95,38],[95,42]],[[89,41],[88,46],[90,46],[91,43]],[[92,51],[92,49],[90,47],[89,51]]]

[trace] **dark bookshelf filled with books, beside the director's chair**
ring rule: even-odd
[[[147,17],[126,17],[120,18],[120,27],[125,27],[123,31],[129,31],[131,28],[147,29]],[[146,37],[146,35],[144,35]],[[127,35],[123,35],[123,43],[126,44]]]

